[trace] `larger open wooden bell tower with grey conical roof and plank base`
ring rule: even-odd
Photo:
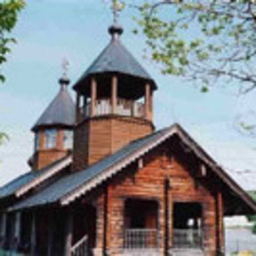
[[[74,170],[115,153],[154,131],[154,80],[109,29],[110,43],[74,85]]]

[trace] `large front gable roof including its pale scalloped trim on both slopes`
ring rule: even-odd
[[[61,178],[37,194],[15,204],[9,210],[19,210],[49,203],[67,205],[174,134],[177,134],[182,142],[194,151],[196,156],[204,163],[208,164],[220,179],[224,181],[252,211],[256,212],[256,203],[252,198],[248,196],[178,124],[174,124],[169,128],[165,128],[145,138],[131,142],[115,154],[107,156],[82,171]]]

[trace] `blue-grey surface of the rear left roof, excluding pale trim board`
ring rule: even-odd
[[[6,185],[0,187],[0,198],[13,195],[19,188],[26,185],[28,182],[42,176],[44,173],[48,172],[53,166],[59,164],[61,161],[65,160],[67,157],[63,157],[54,163],[42,168],[41,170],[35,172],[26,172],[25,174],[20,175],[16,179],[10,181]]]

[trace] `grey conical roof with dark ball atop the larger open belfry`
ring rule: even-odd
[[[154,85],[154,89],[156,89],[156,85],[152,77],[121,43],[119,35],[121,35],[122,32],[123,29],[117,25],[109,28],[109,33],[112,36],[110,43],[100,53],[96,60],[94,60],[92,65],[84,72],[75,84],[75,89],[78,84],[82,83],[86,79],[86,77],[100,73],[120,73],[150,80]]]

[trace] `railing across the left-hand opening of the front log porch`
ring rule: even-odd
[[[158,248],[158,230],[155,228],[130,228],[124,231],[125,249]]]

